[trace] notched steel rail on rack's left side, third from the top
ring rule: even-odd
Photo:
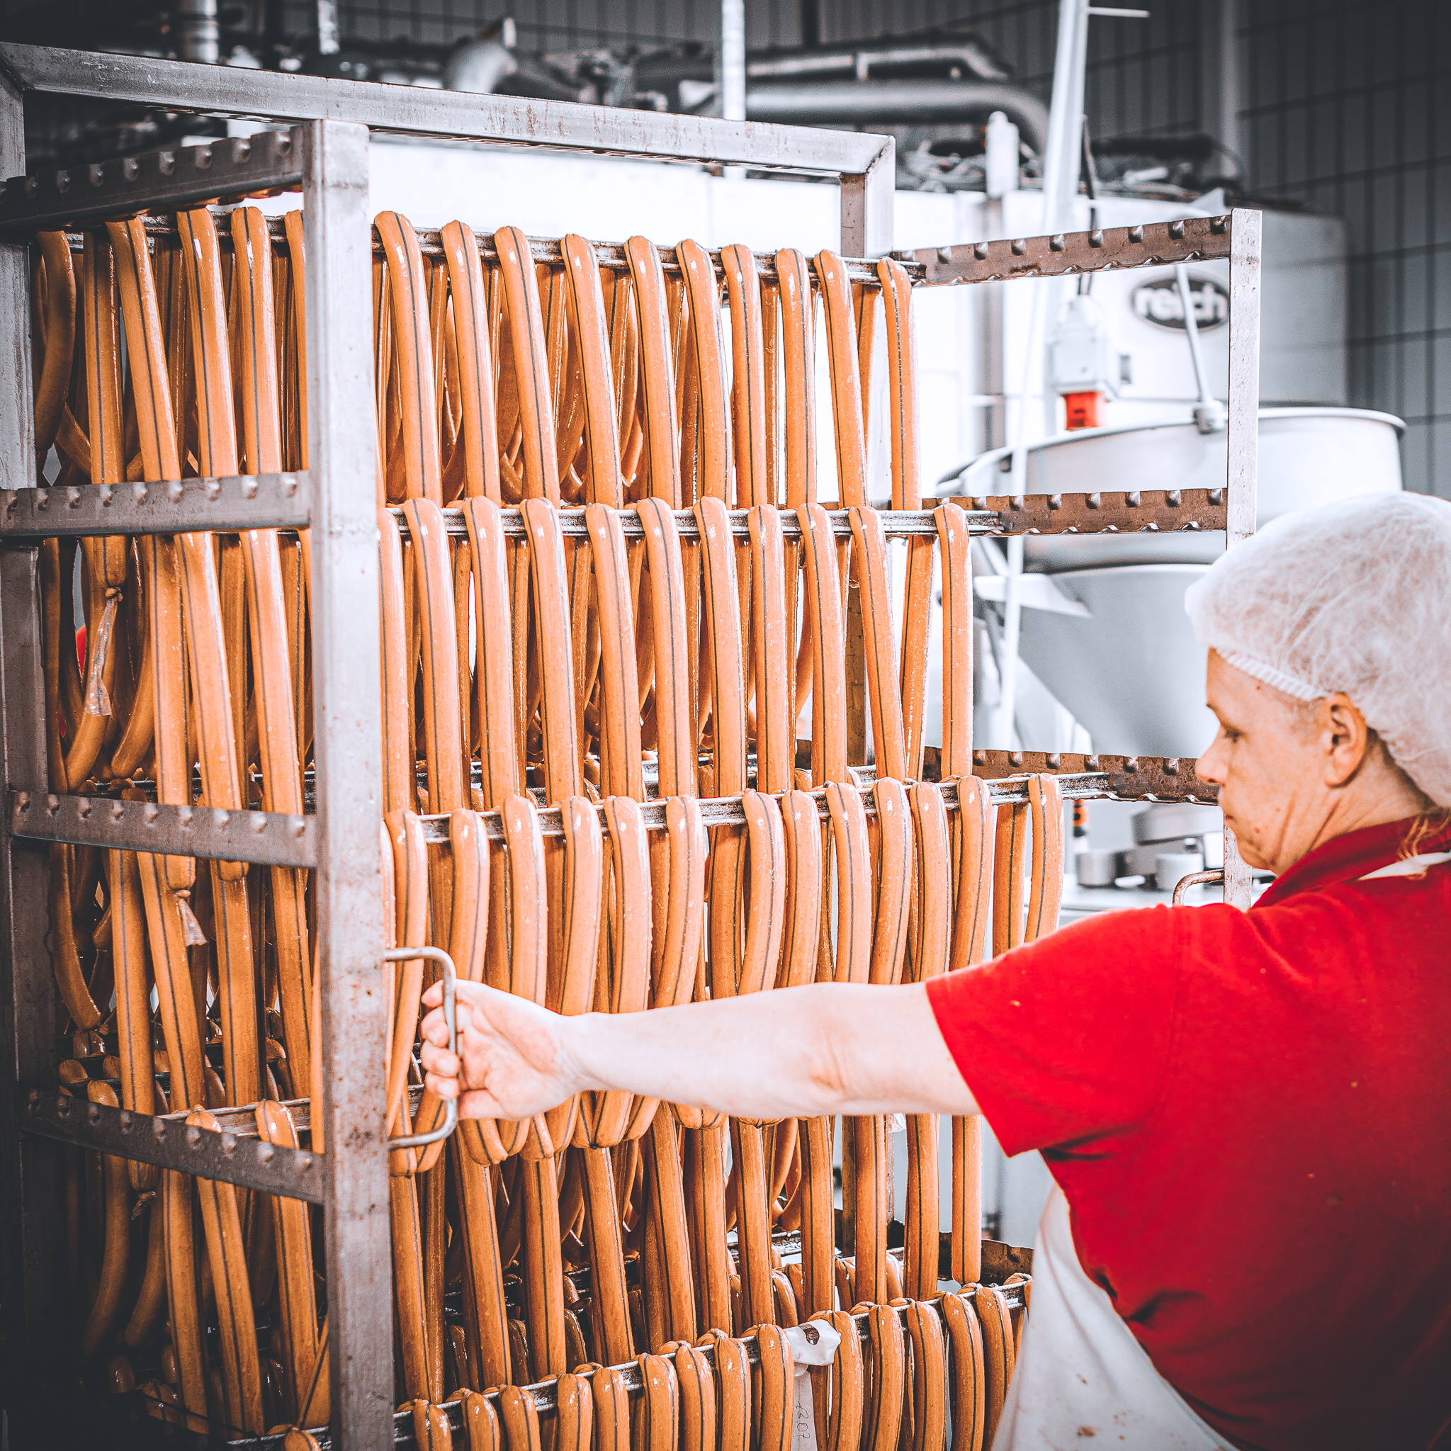
[[[6,823],[15,837],[271,866],[316,866],[318,820],[45,791],[10,791],[6,802]]]

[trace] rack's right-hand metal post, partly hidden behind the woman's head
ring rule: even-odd
[[[1229,472],[1225,480],[1233,548],[1255,531],[1259,463],[1259,213],[1229,219]],[[1249,868],[1225,831],[1225,901],[1249,905]]]

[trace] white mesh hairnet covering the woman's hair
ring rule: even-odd
[[[1284,514],[1214,560],[1199,643],[1296,699],[1344,691],[1396,765],[1451,805],[1451,503],[1362,493]]]

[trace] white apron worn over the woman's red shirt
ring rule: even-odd
[[[1360,881],[1451,862],[1426,852]],[[1084,1274],[1068,1200],[1055,1184],[1033,1249],[1033,1307],[992,1451],[1069,1451],[1088,1438],[1116,1451],[1233,1451],[1154,1368],[1148,1351]]]

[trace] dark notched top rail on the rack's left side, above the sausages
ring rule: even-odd
[[[173,212],[212,199],[241,200],[293,190],[300,180],[295,129],[167,147],[86,167],[7,177],[0,183],[0,232],[54,232],[107,216]]]

